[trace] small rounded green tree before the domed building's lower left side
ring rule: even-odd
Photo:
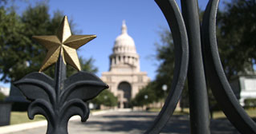
[[[105,106],[114,107],[117,105],[117,97],[114,96],[108,89],[104,90],[99,96],[91,101],[94,104],[103,104]]]

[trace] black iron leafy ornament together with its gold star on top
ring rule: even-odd
[[[108,85],[92,73],[80,71],[76,49],[94,39],[95,35],[71,35],[67,16],[59,26],[56,35],[34,36],[48,52],[39,72],[30,73],[14,85],[27,100],[32,101],[28,116],[32,120],[36,114],[47,118],[47,134],[67,134],[67,123],[71,116],[79,115],[82,121],[89,116],[86,101],[96,97]],[[42,73],[55,63],[55,79]],[[79,70],[71,77],[66,77],[66,65]]]

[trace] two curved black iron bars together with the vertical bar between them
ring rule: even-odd
[[[207,94],[198,93],[197,91],[200,89],[201,92],[205,92],[205,76],[209,81],[213,96],[217,99],[217,103],[221,106],[227,118],[234,124],[234,127],[241,133],[256,133],[254,120],[247,115],[239,104],[221,66],[216,40],[216,15],[219,0],[209,0],[201,26],[199,26],[197,20],[195,21],[195,19],[199,19],[196,0],[191,0],[191,2],[181,1],[183,17],[175,0],[155,1],[157,5],[160,6],[163,14],[165,14],[165,18],[172,31],[175,45],[175,75],[173,76],[173,87],[170,90],[169,97],[166,98],[164,107],[156,117],[151,128],[148,128],[148,131],[145,133],[154,134],[161,132],[161,129],[165,127],[165,124],[173,115],[177,101],[181,97],[181,91],[187,73],[190,72],[189,77],[196,78],[195,76],[198,77],[204,74],[204,70],[205,74],[201,76],[201,82],[189,85],[189,90],[193,89],[193,92],[197,92],[189,92],[189,101],[207,102]],[[197,27],[197,25],[199,27]],[[201,38],[201,41],[197,41],[197,38]],[[201,53],[203,54],[201,55]],[[197,56],[195,57],[195,55]],[[198,58],[204,59],[204,63],[198,62],[201,61],[201,59]],[[198,73],[191,73],[191,71],[194,71],[191,63],[194,62],[197,63],[197,65],[195,65],[196,67],[203,68]],[[200,105],[198,105],[199,103],[197,102],[189,102],[191,133],[210,133],[209,116],[207,116],[209,115],[207,109],[208,105],[205,106],[205,102],[201,103],[203,105],[201,105],[200,109]],[[198,116],[198,113],[201,116]]]

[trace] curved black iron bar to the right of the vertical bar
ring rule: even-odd
[[[217,50],[216,16],[219,0],[210,0],[202,22],[205,70],[213,95],[227,118],[239,132],[256,133],[256,124],[251,120],[235,97],[221,65]]]

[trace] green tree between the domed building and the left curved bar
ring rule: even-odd
[[[160,62],[156,70],[156,79],[148,83],[140,92],[132,99],[132,105],[142,106],[152,102],[163,101],[173,81],[174,70],[174,45],[172,34],[167,29],[160,32],[161,42],[156,43],[156,61]],[[162,89],[163,85],[167,85],[167,91]],[[145,99],[147,96],[147,99]]]

